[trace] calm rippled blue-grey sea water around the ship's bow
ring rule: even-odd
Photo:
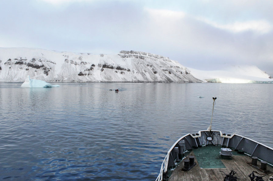
[[[3,180],[155,180],[178,138],[208,128],[214,96],[213,129],[273,147],[273,84],[21,84],[0,82]]]

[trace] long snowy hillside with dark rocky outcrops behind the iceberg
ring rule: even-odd
[[[169,58],[145,52],[114,55],[0,48],[0,81],[202,82]]]

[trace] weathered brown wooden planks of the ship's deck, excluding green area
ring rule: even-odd
[[[194,155],[191,152],[188,156]],[[173,171],[170,176],[169,181],[222,181],[225,178],[225,174],[220,172],[223,171],[228,174],[231,170],[236,172],[235,176],[240,178],[240,181],[250,181],[249,174],[252,171],[256,171],[257,173],[263,173],[259,169],[254,168],[247,164],[247,162],[251,162],[251,158],[249,156],[233,156],[232,160],[221,160],[222,163],[226,166],[226,168],[217,168],[217,169],[200,169],[200,166],[195,159],[196,165],[189,171],[184,172],[181,169],[184,167],[184,162],[182,161],[179,166]],[[261,163],[257,163],[258,167],[261,166]],[[267,170],[273,172],[273,168],[267,166]],[[259,174],[254,173],[257,176]],[[268,180],[269,176],[264,176],[264,180]]]

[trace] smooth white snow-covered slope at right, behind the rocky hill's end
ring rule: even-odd
[[[202,71],[188,68],[196,78],[222,83],[273,83],[266,72],[256,66],[227,66],[224,70]]]

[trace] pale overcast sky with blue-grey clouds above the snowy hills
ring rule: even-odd
[[[182,65],[273,75],[273,1],[1,0],[0,47],[150,52]]]

